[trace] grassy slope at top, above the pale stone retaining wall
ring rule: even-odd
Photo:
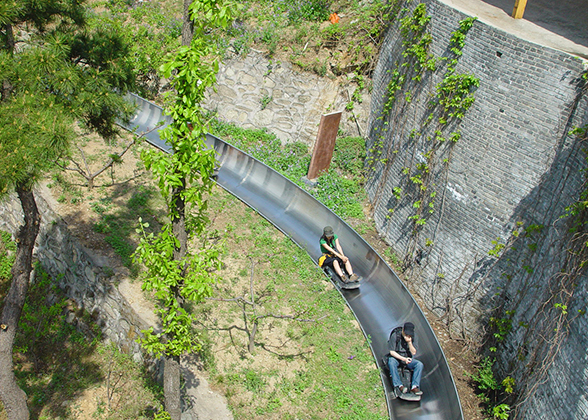
[[[293,64],[322,77],[340,75],[349,67],[367,75],[375,67],[384,30],[398,11],[397,3],[244,1],[239,18],[221,33],[220,43],[223,50],[240,55],[255,48],[269,57],[289,57]],[[340,22],[325,26],[333,12],[342,17]],[[326,57],[333,70],[325,65]]]

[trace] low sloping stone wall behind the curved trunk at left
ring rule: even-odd
[[[67,296],[98,320],[105,338],[135,361],[144,361],[136,339],[141,330],[150,325],[119,291],[117,283],[121,279],[113,276],[107,259],[88,252],[69,234],[67,226],[41,194],[36,193],[35,199],[42,216],[35,257],[53,278],[58,279],[59,287]],[[12,194],[0,200],[0,229],[16,234],[22,223],[18,197]]]

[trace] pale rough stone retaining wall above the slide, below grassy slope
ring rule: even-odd
[[[322,114],[343,111],[340,128],[347,136],[364,136],[370,109],[369,94],[345,111],[355,85],[296,71],[289,62],[271,61],[261,53],[229,57],[220,66],[216,92],[204,107],[221,120],[243,128],[269,128],[282,143],[313,145]],[[271,100],[262,105],[265,100]]]

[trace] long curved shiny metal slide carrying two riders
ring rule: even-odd
[[[169,151],[159,138],[157,127],[165,118],[162,110],[132,95],[138,110],[129,126],[156,147]],[[169,120],[168,120],[169,121]],[[221,139],[207,135],[207,144],[216,150],[219,171],[216,182],[255,209],[317,261],[323,227],[330,225],[345,244],[345,254],[353,261],[354,271],[363,277],[358,289],[342,290],[342,296],[355,314],[366,337],[369,337],[386,392],[391,419],[461,420],[463,414],[447,360],[413,297],[384,260],[328,208],[297,185],[246,153]],[[382,366],[390,331],[411,321],[418,337],[417,358],[425,365],[421,380],[424,392],[420,402],[394,399],[394,393]]]

